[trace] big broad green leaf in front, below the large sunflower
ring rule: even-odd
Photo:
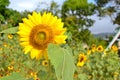
[[[48,56],[54,65],[58,80],[73,80],[75,65],[72,54],[67,49],[55,44],[49,44]]]

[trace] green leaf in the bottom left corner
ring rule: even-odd
[[[23,78],[20,73],[17,72],[13,72],[11,73],[11,75],[0,78],[0,80],[25,80],[25,78]]]

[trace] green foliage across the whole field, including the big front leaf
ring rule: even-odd
[[[49,63],[44,66],[42,64],[44,59],[36,61],[23,54],[17,35],[14,34],[12,39],[9,39],[8,35],[4,33],[0,38],[0,75],[3,75],[0,79],[12,80],[14,77],[18,80],[34,80],[34,76],[41,80],[120,79],[120,59],[113,51],[108,51],[104,56],[103,52],[97,51],[87,55],[87,50],[83,48],[82,43],[77,44],[77,47],[73,46],[72,49],[68,45],[61,48],[58,45],[49,44]],[[76,66],[79,53],[87,55],[87,61],[81,67]],[[13,69],[9,70],[9,66],[13,66]]]

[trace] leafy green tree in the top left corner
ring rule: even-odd
[[[7,23],[8,27],[18,26],[21,21],[21,14],[13,9],[9,9],[9,0],[0,0],[0,22]]]

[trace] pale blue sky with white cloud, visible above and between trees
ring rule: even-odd
[[[48,6],[52,0],[9,0],[9,1],[10,1],[10,5],[8,6],[9,8],[22,12],[24,10],[33,11],[38,7],[38,3],[41,2],[45,2],[46,6]],[[59,5],[62,5],[62,3],[65,0],[54,0],[54,1],[57,2]],[[88,1],[94,3],[93,0],[88,0]],[[45,6],[42,7],[44,8]],[[101,18],[100,20],[96,15],[93,15],[91,16],[91,18],[95,20],[94,25],[91,28],[89,28],[89,30],[93,34],[115,32],[115,28],[117,27],[117,25],[113,25],[110,17],[104,17]]]

